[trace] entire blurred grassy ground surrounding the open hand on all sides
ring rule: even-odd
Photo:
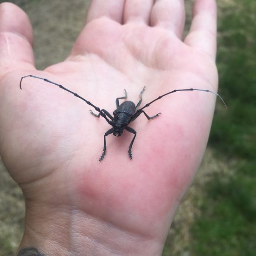
[[[2,1],[0,1],[2,2]],[[34,27],[36,65],[64,60],[89,0],[12,0]],[[186,30],[191,0],[185,0]],[[219,93],[202,166],[169,231],[163,256],[256,256],[256,1],[217,0]],[[22,193],[0,165],[0,256],[23,233]]]

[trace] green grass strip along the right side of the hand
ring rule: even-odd
[[[219,93],[209,144],[229,172],[205,184],[192,255],[256,256],[256,1],[233,0],[219,19]]]

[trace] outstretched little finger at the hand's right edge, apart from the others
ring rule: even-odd
[[[189,34],[184,42],[216,57],[217,34],[216,0],[195,0]]]

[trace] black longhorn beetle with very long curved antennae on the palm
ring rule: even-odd
[[[194,89],[194,88],[189,88],[189,89],[176,89],[176,90],[173,90],[171,92],[168,92],[166,94],[163,94],[159,97],[157,97],[155,100],[153,101],[150,101],[148,104],[146,104],[144,107],[142,108],[139,108],[140,105],[141,105],[141,101],[142,101],[142,98],[141,98],[141,94],[144,92],[145,88],[144,87],[142,90],[141,90],[141,93],[139,94],[139,97],[140,97],[140,100],[139,102],[137,103],[137,105],[135,106],[134,102],[132,101],[124,101],[123,103],[119,104],[119,100],[123,100],[123,99],[127,99],[127,92],[126,90],[124,90],[124,96],[123,97],[118,97],[116,98],[115,100],[115,104],[116,104],[116,109],[115,111],[113,112],[113,115],[114,117],[105,109],[100,109],[96,106],[94,106],[94,104],[92,104],[90,101],[87,101],[86,99],[82,98],[80,95],[68,90],[67,88],[65,88],[64,86],[62,86],[61,84],[57,84],[53,81],[50,81],[48,80],[47,78],[42,78],[42,77],[39,77],[39,76],[35,76],[33,74],[30,74],[30,75],[26,75],[26,76],[22,76],[21,79],[20,79],[20,89],[21,88],[21,82],[24,78],[26,77],[33,77],[33,78],[37,78],[37,79],[41,79],[43,81],[46,81],[48,83],[51,83],[51,84],[54,84],[56,86],[58,86],[59,88],[73,94],[75,97],[85,101],[88,105],[92,106],[96,111],[99,112],[99,114],[95,114],[92,110],[89,110],[90,113],[96,117],[100,117],[102,116],[103,118],[105,118],[105,120],[112,126],[112,128],[110,128],[104,135],[104,144],[103,144],[103,153],[99,159],[99,161],[101,162],[103,160],[103,158],[105,157],[106,155],[106,150],[107,150],[107,145],[106,145],[106,136],[110,135],[113,133],[113,135],[115,136],[121,136],[122,133],[123,133],[123,130],[126,129],[128,132],[130,133],[133,133],[134,134],[134,137],[130,143],[130,146],[129,146],[129,149],[128,149],[128,155],[129,155],[129,158],[132,159],[133,158],[133,155],[132,155],[132,146],[133,146],[133,142],[135,140],[135,137],[136,137],[136,131],[135,129],[131,128],[128,126],[128,124],[132,121],[134,121],[139,115],[141,115],[142,113],[148,118],[148,120],[151,120],[159,115],[161,115],[161,113],[158,113],[156,115],[153,115],[151,117],[149,117],[145,111],[143,110],[144,108],[147,108],[150,104],[152,104],[153,102],[157,101],[157,100],[160,100],[162,97],[168,95],[168,94],[172,94],[172,93],[175,93],[175,92],[181,92],[181,91],[202,91],[202,92],[209,92],[209,93],[212,93],[212,94],[215,94],[216,96],[220,97],[221,100],[222,100],[222,97],[219,95],[219,94],[216,94],[212,91],[209,91],[209,90],[205,90],[205,89]],[[225,107],[226,107],[226,104],[225,102],[222,100],[222,102],[224,103]],[[108,119],[109,118],[109,119]]]

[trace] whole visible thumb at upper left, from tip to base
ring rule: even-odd
[[[0,4],[0,74],[34,67],[33,32],[27,14],[12,3]]]

